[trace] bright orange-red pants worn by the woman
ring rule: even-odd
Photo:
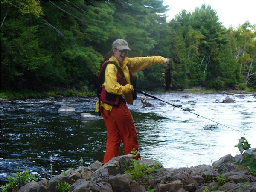
[[[113,157],[119,156],[121,141],[124,143],[125,154],[131,154],[134,148],[138,150],[138,136],[131,112],[125,102],[111,111],[101,107],[102,117],[107,127],[107,147],[104,156],[104,164]],[[137,159],[140,159],[140,154]]]

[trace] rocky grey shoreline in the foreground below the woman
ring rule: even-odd
[[[256,148],[246,151],[252,154]],[[115,157],[102,166],[99,161],[87,167],[69,169],[50,180],[32,181],[22,186],[19,192],[61,192],[56,186],[69,183],[70,192],[256,192],[256,177],[235,163],[242,155],[230,154],[215,161],[212,166],[198,165],[190,168],[164,168],[147,177],[132,180],[124,173],[124,165],[131,165],[131,155]],[[140,164],[148,167],[157,164],[143,159]],[[159,165],[159,163],[158,163]]]

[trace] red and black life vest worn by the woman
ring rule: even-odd
[[[104,83],[104,79],[105,79],[105,70],[106,70],[107,64],[109,64],[109,63],[114,64],[116,66],[116,68],[118,69],[117,82],[121,85],[127,84],[127,81],[125,79],[125,75],[124,75],[122,69],[116,64],[116,62],[107,60],[102,64],[102,67],[99,71],[99,76],[98,76],[99,84],[101,86],[98,90],[99,114],[100,114],[100,102],[101,101],[108,104],[108,105],[112,105],[112,106],[115,106],[115,107],[119,106],[121,101],[122,101],[122,95],[116,95],[116,94],[108,93],[107,90],[105,89],[105,87],[102,86],[102,84]],[[129,69],[129,74],[130,74],[131,85],[136,87],[137,77],[134,76],[134,74],[132,73],[132,71],[130,69]],[[136,98],[137,98],[136,92],[134,92],[133,93],[133,100],[136,99]]]

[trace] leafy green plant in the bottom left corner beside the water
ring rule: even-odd
[[[21,172],[20,167],[17,167],[14,177],[9,175],[7,176],[7,179],[9,180],[9,183],[5,184],[4,186],[1,186],[2,192],[8,192],[12,189],[14,190],[15,188],[19,188],[20,186],[29,183],[30,181],[37,180],[34,174],[29,173],[28,169]]]

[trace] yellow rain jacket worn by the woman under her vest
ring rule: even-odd
[[[116,64],[122,69],[128,84],[123,86],[117,82],[118,69],[114,64],[109,63],[105,70],[105,81],[103,83],[103,86],[105,87],[108,93],[116,94],[116,95],[124,95],[126,102],[132,105],[133,104],[133,98],[132,98],[133,86],[131,85],[127,64],[129,65],[131,71],[134,73],[134,72],[143,70],[145,68],[148,68],[153,64],[163,64],[165,59],[166,58],[161,56],[125,58],[121,66],[119,64],[119,61],[114,56],[112,56],[109,59],[109,61],[115,61]],[[101,102],[101,105],[103,108],[105,108],[108,111],[111,111],[113,108],[112,105],[108,105],[103,102]],[[99,112],[99,101],[97,101],[96,103],[95,111]]]

